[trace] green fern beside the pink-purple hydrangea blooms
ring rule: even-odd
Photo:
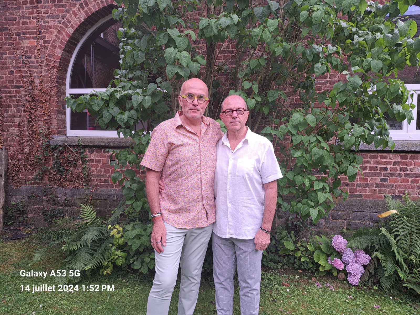
[[[406,193],[404,202],[386,195],[392,213],[382,226],[364,227],[355,231],[349,247],[372,252],[379,260],[375,276],[385,290],[406,286],[420,294],[420,202]]]

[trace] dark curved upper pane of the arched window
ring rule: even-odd
[[[121,22],[113,19],[98,28],[79,50],[71,72],[71,89],[106,88],[119,68],[119,39]]]

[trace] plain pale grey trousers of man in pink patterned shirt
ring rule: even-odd
[[[213,223],[204,228],[176,228],[165,223],[166,246],[155,251],[156,275],[147,300],[147,315],[167,315],[181,262],[178,315],[192,315]]]

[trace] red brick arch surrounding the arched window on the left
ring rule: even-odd
[[[90,3],[81,2],[63,20],[55,33],[46,58],[58,62],[57,88],[60,95],[57,102],[57,126],[52,128],[57,134],[66,134],[66,74],[71,56],[87,31],[100,19],[109,16],[112,10],[118,8],[113,0],[101,0]]]

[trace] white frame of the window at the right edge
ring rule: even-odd
[[[405,84],[405,87],[410,91],[407,102],[413,103],[416,107],[412,110],[414,119],[409,124],[407,120],[402,122],[401,130],[390,130],[389,136],[393,140],[420,140],[420,129],[416,129],[417,123],[417,97],[420,94],[420,84]]]

